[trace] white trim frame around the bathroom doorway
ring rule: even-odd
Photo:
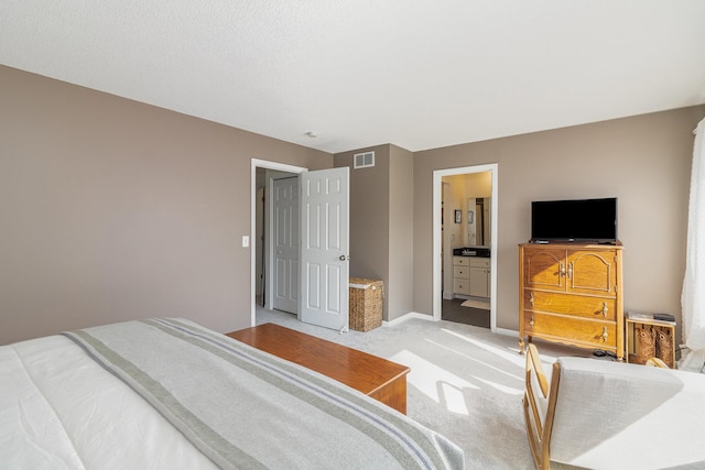
[[[443,226],[442,221],[442,200],[443,200],[443,177],[465,175],[468,173],[487,173],[491,175],[491,204],[490,204],[490,331],[497,331],[497,254],[498,254],[498,233],[497,233],[497,214],[499,207],[499,193],[497,163],[486,165],[463,166],[457,168],[435,170],[433,172],[433,319],[441,320],[443,310],[443,259],[441,255]]]

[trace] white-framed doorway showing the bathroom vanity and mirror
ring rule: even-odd
[[[497,328],[497,171],[489,164],[434,172],[434,320]],[[477,319],[468,319],[473,314]]]

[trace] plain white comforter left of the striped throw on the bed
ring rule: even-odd
[[[217,468],[66,337],[1,347],[0,371],[2,468]]]

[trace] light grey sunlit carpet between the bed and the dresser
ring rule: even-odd
[[[291,314],[258,309],[257,323],[270,321],[409,365],[408,415],[460,446],[466,468],[533,469],[521,405],[525,357],[519,354],[518,338],[415,318],[339,334]],[[549,370],[556,357],[582,352],[544,342],[538,347]]]

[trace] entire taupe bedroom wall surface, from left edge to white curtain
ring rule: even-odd
[[[250,159],[319,170],[330,155],[8,67],[0,83],[0,343],[144,316],[249,326]],[[350,273],[386,281],[386,318],[430,315],[433,171],[497,163],[500,328],[518,327],[530,201],[551,198],[619,197],[625,307],[680,317],[691,131],[704,116],[693,107],[413,159],[377,146],[378,167],[351,171]]]

